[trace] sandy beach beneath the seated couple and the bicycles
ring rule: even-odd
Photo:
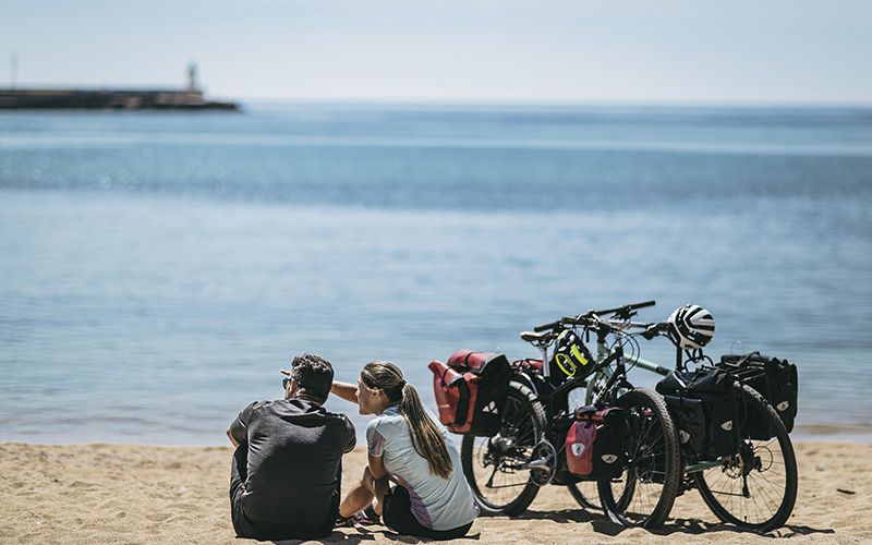
[[[0,445],[2,543],[241,543],[229,518],[229,447]],[[621,529],[546,486],[522,517],[482,517],[479,543],[872,543],[872,446],[797,445],[799,496],[787,526],[767,535],[718,524],[695,492],[663,530]],[[346,457],[344,486],[365,451]],[[338,529],[327,541],[401,541],[384,526]],[[255,543],[255,542],[251,542]]]

